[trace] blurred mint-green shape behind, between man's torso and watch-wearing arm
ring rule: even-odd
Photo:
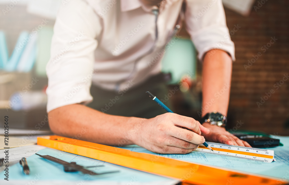
[[[174,37],[166,45],[162,59],[162,72],[171,73],[169,84],[177,84],[183,76],[196,78],[197,54],[190,39]]]

